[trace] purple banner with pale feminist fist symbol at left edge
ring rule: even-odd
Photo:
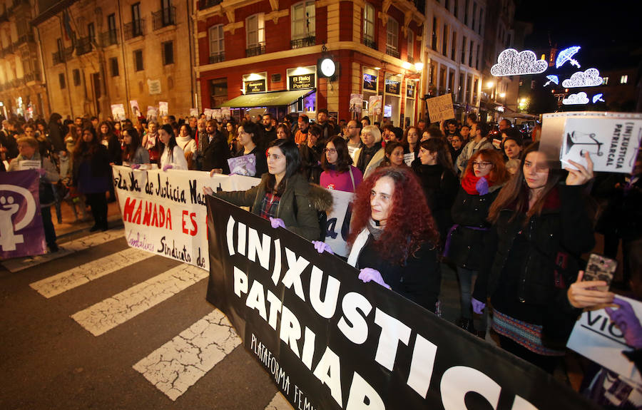
[[[0,173],[0,257],[46,252],[37,170]]]

